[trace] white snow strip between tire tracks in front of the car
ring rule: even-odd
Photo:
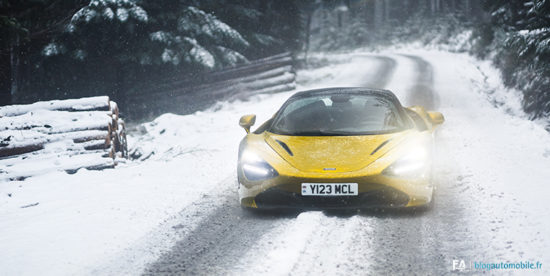
[[[357,227],[363,233],[372,233],[358,217],[301,213],[293,223],[285,222],[263,234],[236,264],[234,275],[245,271],[249,275],[346,275],[343,271],[347,269],[358,271],[353,260],[338,258],[353,246],[353,229]],[[333,229],[338,229],[338,235]],[[368,256],[374,252],[364,246],[361,254]],[[363,263],[359,271],[368,271],[368,266]]]

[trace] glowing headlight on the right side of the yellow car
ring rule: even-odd
[[[429,151],[426,147],[417,147],[393,162],[382,173],[388,176],[424,178],[429,171]]]

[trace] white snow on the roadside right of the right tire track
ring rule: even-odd
[[[550,262],[550,212],[545,204],[550,159],[544,156],[550,135],[542,125],[527,120],[519,93],[504,89],[488,63],[478,65],[467,55],[420,53],[441,75],[435,89],[452,126],[442,128],[441,136],[454,145],[447,156],[476,189],[472,202],[479,206],[471,216],[482,219],[472,220],[472,227],[485,230],[479,231],[487,234],[482,240],[490,241],[495,251],[513,243],[508,256],[498,258]],[[485,87],[480,88],[480,83]],[[488,97],[501,103],[498,108]]]

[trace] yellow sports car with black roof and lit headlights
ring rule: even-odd
[[[249,208],[425,206],[432,200],[439,112],[404,108],[387,90],[299,92],[254,132],[241,117],[239,199]]]

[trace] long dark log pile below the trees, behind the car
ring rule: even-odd
[[[219,101],[246,100],[294,89],[294,59],[291,53],[283,53],[192,78],[139,84],[130,89],[132,97],[124,106],[128,118],[143,120],[167,112],[190,114]]]

